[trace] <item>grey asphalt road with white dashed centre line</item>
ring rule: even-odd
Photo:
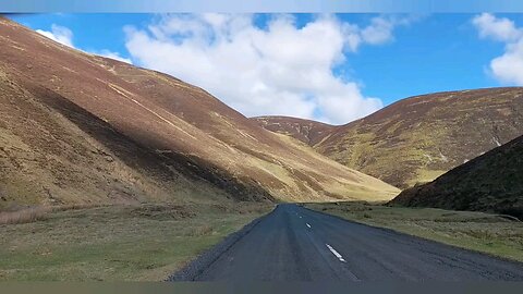
[[[523,266],[280,205],[197,281],[523,281]]]

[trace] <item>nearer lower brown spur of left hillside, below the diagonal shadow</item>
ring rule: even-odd
[[[1,78],[0,91],[0,208],[232,197],[52,91]]]

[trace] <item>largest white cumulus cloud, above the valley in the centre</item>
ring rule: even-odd
[[[400,19],[368,26],[320,15],[297,25],[273,15],[165,15],[146,28],[126,26],[126,48],[139,65],[202,86],[247,117],[280,114],[346,123],[382,107],[333,69],[362,45],[393,39]]]

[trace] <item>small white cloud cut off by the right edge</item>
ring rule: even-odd
[[[499,82],[523,86],[523,28],[506,17],[484,13],[473,19],[479,37],[506,44],[502,56],[491,60],[489,71]]]

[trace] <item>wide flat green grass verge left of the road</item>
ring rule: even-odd
[[[272,207],[118,206],[0,225],[0,281],[160,281]]]

